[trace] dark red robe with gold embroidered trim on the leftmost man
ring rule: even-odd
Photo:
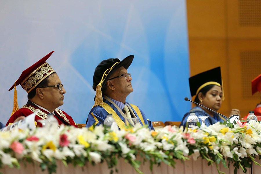
[[[37,126],[42,127],[42,124],[40,122],[38,122],[38,120],[41,119],[46,119],[47,111],[37,107],[35,104],[33,104],[30,100],[28,100],[27,104],[24,105],[22,108],[20,108],[19,110],[17,110],[8,120],[8,122],[6,123],[6,126],[8,126],[9,123],[13,123],[15,119],[17,119],[20,116],[28,116],[36,111],[39,111],[36,116],[35,116],[35,121],[37,122]],[[75,122],[73,121],[73,118],[68,115],[67,113],[65,113],[64,111],[60,110],[60,109],[55,109],[54,110],[55,113],[55,118],[58,121],[58,124],[65,124],[65,125],[71,125],[71,126],[75,126],[78,127]]]

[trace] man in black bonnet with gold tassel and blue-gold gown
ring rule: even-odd
[[[127,72],[134,56],[130,55],[123,61],[119,59],[103,60],[93,75],[93,90],[96,91],[95,104],[86,120],[86,127],[103,124],[108,114],[112,114],[119,129],[124,128],[124,121],[137,118],[142,126],[154,129],[143,111],[126,102],[126,97],[133,92],[131,73]]]

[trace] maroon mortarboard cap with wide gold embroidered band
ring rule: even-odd
[[[54,73],[55,71],[52,67],[46,63],[46,60],[52,55],[53,52],[54,51],[50,52],[48,55],[44,56],[35,64],[24,70],[9,91],[12,90],[14,86],[20,84],[27,93],[30,93],[30,91],[34,89],[41,81],[43,81],[50,74]]]

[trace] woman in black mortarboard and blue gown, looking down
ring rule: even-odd
[[[220,109],[222,101],[224,100],[220,67],[190,77],[189,86],[191,96],[193,97],[196,95],[194,102],[216,112]],[[208,118],[205,119],[206,126],[217,122],[224,122],[226,120],[226,118],[221,115],[207,110],[199,105],[193,107],[190,111],[195,111],[195,115],[197,115],[197,117],[208,116]],[[234,114],[240,116],[240,111],[238,109],[232,109],[230,115]],[[188,117],[189,112],[184,115],[180,126],[186,126]],[[199,121],[200,124],[202,124],[202,120],[199,119]]]

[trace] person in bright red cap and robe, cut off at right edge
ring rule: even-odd
[[[256,92],[261,92],[261,74],[258,75],[258,77],[255,77],[255,79],[253,79],[251,81],[251,86],[252,86],[252,95],[254,95]],[[261,93],[260,93],[261,94]],[[260,100],[261,100],[261,95],[260,95]],[[255,109],[253,110],[255,116],[261,116],[261,101],[259,104],[256,105]],[[243,120],[247,120],[247,116],[249,114],[247,114]]]

